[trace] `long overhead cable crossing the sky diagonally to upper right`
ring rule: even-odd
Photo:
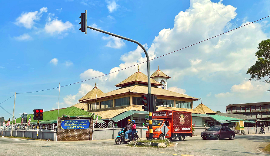
[[[270,16],[266,16],[266,17],[264,17],[264,18],[268,18],[268,17],[270,17]],[[256,20],[256,21],[253,21],[253,22],[248,23],[248,24],[252,24],[252,23],[257,22],[257,21],[260,21],[260,20],[262,20],[262,19],[264,19],[264,18],[258,19],[258,20]],[[246,25],[248,25],[248,24],[242,25],[242,26],[240,26],[240,27],[238,27],[238,28],[244,27],[244,26],[246,26]],[[235,29],[238,29],[238,28],[235,28]],[[230,31],[234,31],[235,29],[232,29],[232,30],[230,30]],[[222,34],[226,34],[226,33],[230,32],[230,31],[226,31],[225,33],[222,33]],[[218,37],[218,36],[220,36],[220,35],[222,35],[222,34],[216,35],[216,36],[214,36],[214,37]],[[214,37],[211,37],[211,38],[208,38],[208,39],[206,39],[206,40],[203,40],[203,41],[197,42],[197,43],[195,43],[195,44],[199,44],[199,43],[201,43],[201,42],[204,42],[204,41],[210,40],[210,39],[212,39],[212,38],[214,38]],[[195,44],[191,44],[191,45],[189,45],[189,46],[187,46],[187,47],[191,47],[191,46],[193,46],[193,45],[195,45]],[[181,49],[175,50],[175,51],[170,52],[170,53],[168,53],[168,54],[172,54],[172,53],[174,53],[174,52],[176,52],[176,51],[179,51],[179,50],[185,49],[185,48],[187,48],[187,47],[183,47],[183,48],[181,48]],[[159,56],[159,57],[163,57],[163,56],[168,55],[168,54],[164,54],[164,55]],[[157,59],[157,58],[159,58],[159,57],[155,57],[155,58],[153,58],[153,59],[151,59],[151,60]],[[145,63],[145,62],[147,62],[147,61],[144,61],[144,62],[141,62],[141,63],[135,64],[135,65],[130,66],[130,67],[134,67],[134,66],[137,66],[137,65],[142,64],[142,63]],[[111,72],[111,73],[115,73],[115,72],[118,72],[118,71],[121,71],[121,70],[124,70],[124,69],[130,68],[130,67],[126,67],[126,68],[123,68],[123,69],[120,69],[120,70],[117,70],[117,71],[114,71],[114,72]],[[108,74],[111,74],[111,73],[107,73],[107,74],[104,74],[104,75],[101,75],[101,76],[105,76],[105,75],[108,75]],[[91,78],[91,79],[83,80],[83,81],[76,82],[76,83],[81,83],[81,82],[84,82],[84,81],[92,80],[92,79],[95,79],[95,78],[98,78],[98,77],[101,77],[101,76],[93,77],[93,78]],[[65,85],[65,86],[73,85],[73,84],[76,84],[76,83],[68,84],[68,85]],[[65,87],[65,86],[60,86],[60,87]],[[45,91],[45,90],[51,90],[51,89],[57,89],[57,88],[59,88],[59,87],[50,88],[50,89],[44,89],[44,90],[38,90],[38,91],[33,91],[33,92],[25,92],[25,93],[35,93],[35,92],[41,92],[41,91]],[[25,93],[17,93],[17,94],[25,94]]]

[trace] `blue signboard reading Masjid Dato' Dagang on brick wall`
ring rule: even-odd
[[[88,129],[90,120],[61,120],[61,129]]]

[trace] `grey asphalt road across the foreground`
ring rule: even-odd
[[[170,148],[135,148],[125,144],[116,145],[115,140],[94,141],[36,141],[30,139],[0,138],[2,156],[116,156],[116,155],[180,155],[180,156],[269,156],[260,146],[270,142],[270,134],[236,135],[233,140],[203,140],[200,136],[187,137]]]

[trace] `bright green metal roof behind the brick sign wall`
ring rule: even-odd
[[[44,111],[43,112],[43,120],[39,120],[39,123],[43,122],[43,121],[53,121],[53,120],[56,120],[57,121],[57,112],[58,110],[55,109],[55,110],[50,110],[50,111]],[[89,112],[86,112],[82,109],[79,109],[77,107],[67,107],[67,108],[62,108],[62,109],[59,109],[59,117],[62,116],[62,115],[68,115],[68,116],[71,116],[71,117],[74,117],[74,116],[82,116],[82,115],[89,115],[89,116],[92,116],[93,114],[89,113]],[[29,119],[29,117],[31,116],[31,123],[36,123],[37,120],[33,120],[33,114],[28,114],[27,115],[27,121]],[[94,117],[94,119],[96,118],[96,115]],[[98,116],[98,119],[101,119],[100,116]],[[21,121],[22,121],[22,117],[19,117],[17,120],[17,123],[20,124]],[[56,122],[57,123],[57,122]]]

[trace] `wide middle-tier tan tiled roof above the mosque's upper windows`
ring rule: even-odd
[[[122,88],[113,90],[111,92],[102,94],[102,95],[98,96],[97,99],[108,97],[108,96],[114,96],[114,95],[118,95],[118,94],[122,94],[122,93],[128,93],[128,92],[130,92],[130,93],[148,94],[148,87],[147,86],[141,86],[141,85],[122,87]],[[171,96],[171,97],[179,97],[179,98],[188,98],[188,99],[198,100],[198,98],[195,98],[195,97],[192,97],[192,96],[187,96],[187,95],[184,95],[184,94],[172,92],[172,91],[169,91],[169,90],[166,90],[166,89],[161,89],[161,88],[158,88],[158,87],[151,87],[151,94],[160,95],[160,96]],[[81,102],[92,100],[92,99],[95,99],[95,97],[82,100]]]

